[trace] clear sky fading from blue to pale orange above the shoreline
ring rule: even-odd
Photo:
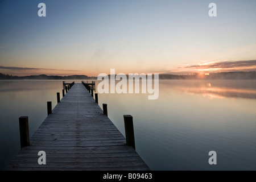
[[[255,0],[0,0],[0,73],[256,71],[255,9]]]

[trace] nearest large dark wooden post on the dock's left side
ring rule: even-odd
[[[20,147],[27,147],[30,145],[30,132],[28,130],[28,117],[19,117],[19,135]]]

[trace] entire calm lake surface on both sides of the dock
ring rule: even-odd
[[[1,169],[19,151],[18,118],[28,115],[32,136],[62,89],[60,80],[0,81]],[[123,135],[123,115],[133,115],[136,150],[152,170],[256,170],[256,80],[160,80],[158,100],[147,96],[98,98]]]

